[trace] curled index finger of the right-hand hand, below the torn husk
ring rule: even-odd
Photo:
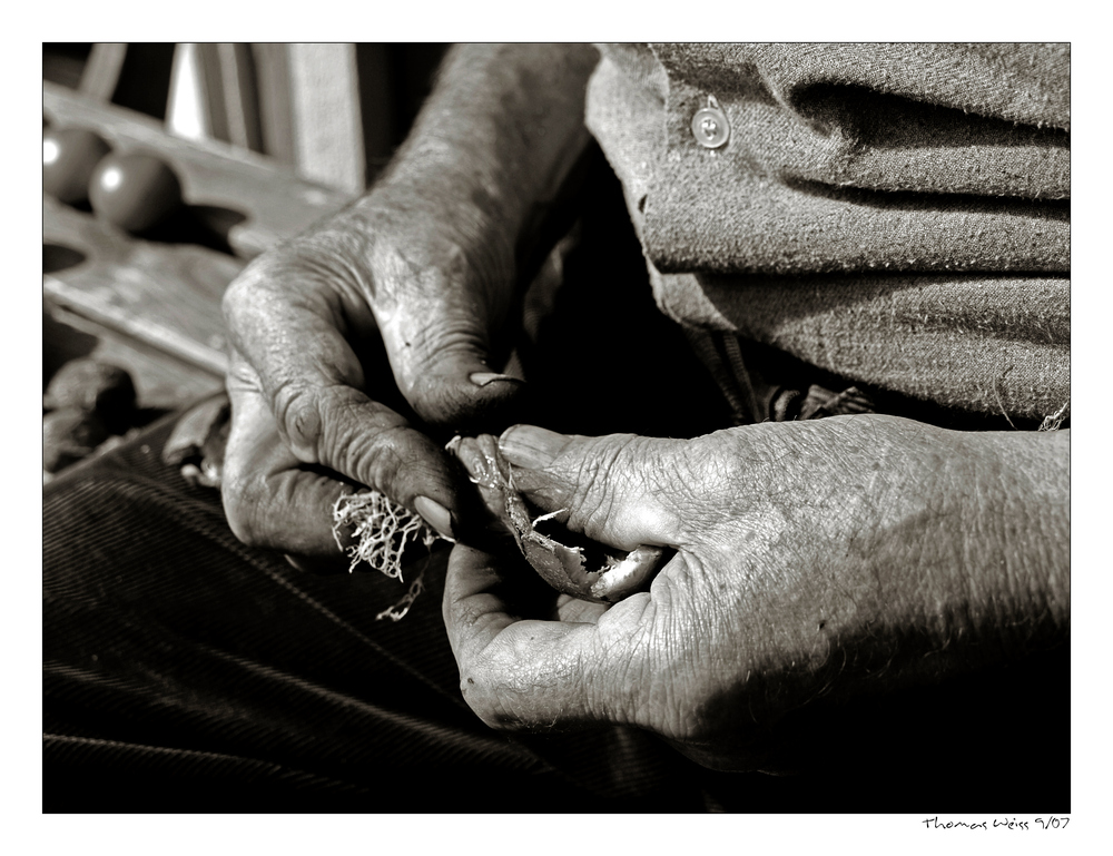
[[[608,679],[614,658],[598,624],[520,618],[503,561],[463,544],[449,557],[444,622],[469,706],[504,729],[618,717],[624,682]]]

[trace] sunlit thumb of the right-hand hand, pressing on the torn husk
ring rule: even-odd
[[[588,437],[514,425],[499,439],[499,451],[514,465],[514,486],[534,505],[545,512],[567,509],[565,525],[573,532],[633,550],[679,542],[672,482],[682,442],[634,434]]]

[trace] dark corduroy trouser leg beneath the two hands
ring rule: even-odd
[[[483,726],[460,696],[440,617],[445,551],[407,568],[427,564],[410,613],[376,620],[404,586],[307,574],[244,547],[216,492],[161,464],[167,432],[156,426],[45,495],[48,810],[702,805],[666,775],[648,736],[530,745]],[[120,785],[109,794],[98,779]]]

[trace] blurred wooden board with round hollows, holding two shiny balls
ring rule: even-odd
[[[118,151],[142,148],[164,158],[179,175],[193,216],[220,232],[226,245],[221,252],[173,236],[138,238],[43,195],[45,311],[109,343],[97,347],[132,372],[140,400],[145,387],[160,391],[162,400],[148,396],[148,404],[176,406],[218,387],[227,364],[220,297],[228,283],[249,258],[349,196],[262,155],[173,137],[156,119],[63,87],[43,83],[43,111],[55,126],[96,130]]]

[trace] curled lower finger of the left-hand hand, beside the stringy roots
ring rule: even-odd
[[[353,488],[305,468],[278,436],[265,399],[229,384],[232,429],[221,499],[233,532],[250,547],[333,558],[332,509]]]

